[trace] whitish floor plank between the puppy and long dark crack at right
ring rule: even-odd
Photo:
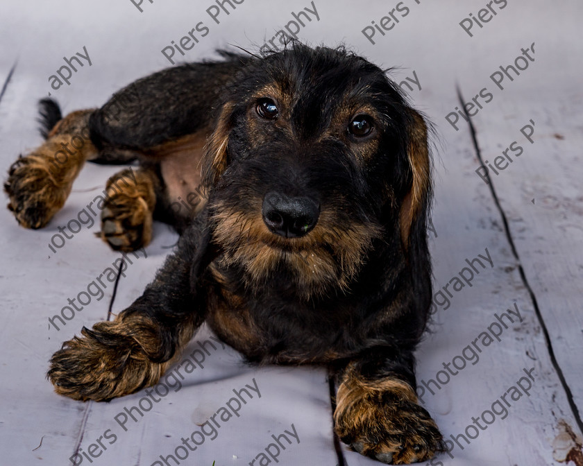
[[[450,94],[455,96],[453,89]],[[438,236],[432,242],[432,254],[434,291],[442,290],[443,295],[435,298],[441,303],[434,316],[435,333],[421,345],[417,374],[422,387],[419,395],[453,447],[454,458],[441,455],[434,464],[554,464],[552,440],[559,434],[559,421],[567,419],[573,425],[573,419],[532,303],[500,231],[500,217],[489,191],[473,180],[472,158],[468,135],[449,135],[442,154],[445,169],[437,169],[433,223]],[[490,257],[493,267],[478,254]],[[454,277],[471,275],[466,259],[479,259],[483,267],[474,262],[479,273],[473,273],[471,288],[464,283],[464,288],[455,291]],[[452,297],[443,291],[446,285]],[[522,322],[507,311],[515,303]],[[502,317],[508,328],[497,327],[496,314],[502,313],[514,318],[511,323]],[[492,332],[499,334],[500,341]],[[530,396],[519,397],[512,386],[531,368]],[[528,387],[526,380],[521,383]],[[507,390],[516,400],[508,397]],[[502,396],[511,406],[500,401]],[[493,410],[500,413],[494,419],[487,412]],[[478,421],[484,430],[473,422],[473,417],[480,420],[482,415],[488,422],[493,420],[491,425]],[[346,455],[350,466],[373,464],[357,454]]]

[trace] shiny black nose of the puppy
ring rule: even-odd
[[[319,205],[310,198],[291,197],[271,191],[263,199],[263,221],[273,233],[296,238],[318,223]]]

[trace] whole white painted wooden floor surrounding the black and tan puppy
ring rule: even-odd
[[[572,460],[582,466],[583,3],[237,1],[231,1],[235,10],[224,3],[229,15],[214,0],[144,0],[143,12],[130,0],[2,1],[0,171],[39,144],[36,102],[49,92],[65,112],[101,105],[122,85],[169,66],[160,51],[200,21],[208,33],[173,60],[209,58],[228,44],[258,48],[294,19],[292,12],[315,6],[317,15],[301,16],[298,37],[312,44],[344,42],[383,67],[400,67],[394,77],[411,78],[412,101],[439,135],[430,235],[437,313],[417,373],[419,395],[451,451],[431,464]],[[391,10],[398,23],[382,19]],[[367,28],[371,21],[393,27],[382,35]],[[294,24],[289,28],[294,31]],[[369,35],[375,31],[375,44],[364,28]],[[84,66],[74,63],[70,85],[51,89],[50,76],[65,64],[63,57],[85,55],[83,47],[91,65],[81,58]],[[515,63],[523,71],[516,76],[509,69],[510,80],[500,66]],[[504,77],[503,89],[493,74]],[[464,103],[475,98],[482,108],[468,107],[471,126],[457,114],[455,130],[446,115],[453,112],[449,119],[455,121],[462,108],[457,89]],[[516,149],[507,150],[507,166],[505,157],[496,159],[506,148]],[[505,168],[490,170],[487,184],[476,173],[480,161]],[[52,392],[44,377],[49,357],[82,325],[105,318],[113,284],[106,282],[104,297],[93,297],[60,330],[49,318],[119,254],[94,238],[98,225],[89,221],[56,252],[49,242],[115,171],[88,165],[65,208],[43,230],[23,230],[0,210],[0,464],[226,466],[259,458],[255,465],[337,465],[326,374],[248,368],[207,329],[187,352],[200,361],[196,370],[165,379],[158,397],[139,392],[96,404]],[[135,259],[119,281],[114,312],[140,295],[175,241],[167,227],[156,225],[147,258]],[[469,283],[455,279],[462,276]],[[233,390],[246,386],[258,392],[247,388],[250,396],[243,395],[246,404],[237,408]],[[221,411],[227,406],[230,418]],[[215,418],[219,427],[205,424],[217,412],[223,413]],[[180,448],[181,438],[201,430],[205,442],[196,451]],[[285,450],[269,447],[271,435],[285,431],[291,445],[282,440]],[[262,453],[267,456],[260,463]],[[350,451],[344,458],[350,466],[374,464]]]

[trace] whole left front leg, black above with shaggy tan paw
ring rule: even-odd
[[[103,401],[155,384],[205,319],[199,278],[212,261],[208,242],[203,211],[141,297],[53,354],[47,376],[56,392]]]

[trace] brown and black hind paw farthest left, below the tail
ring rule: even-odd
[[[40,155],[21,156],[8,170],[8,209],[25,228],[44,227],[67,200],[69,189],[60,185],[49,163]]]

